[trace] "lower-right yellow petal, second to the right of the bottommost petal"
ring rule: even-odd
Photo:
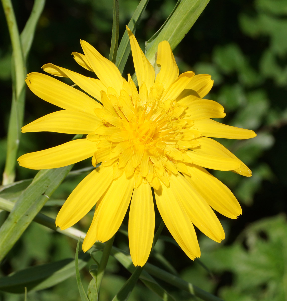
[[[171,194],[181,204],[193,224],[217,242],[224,239],[224,230],[215,213],[187,179],[181,174],[171,174],[170,182]]]

